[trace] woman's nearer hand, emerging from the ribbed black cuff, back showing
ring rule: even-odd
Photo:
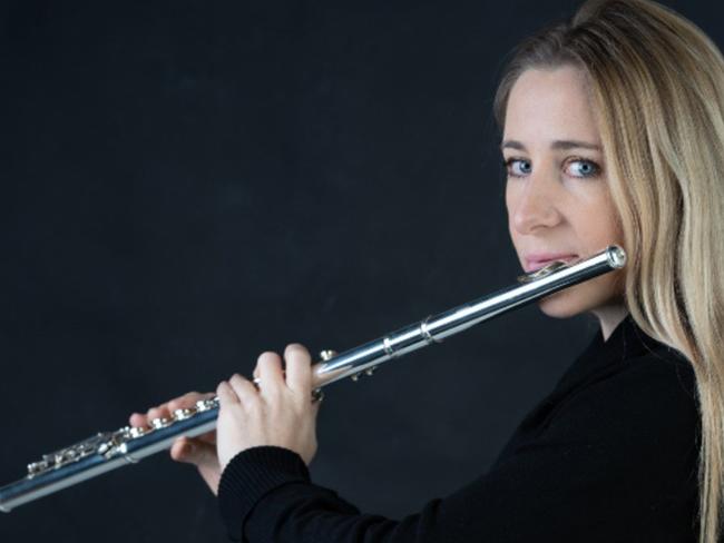
[[[222,471],[238,453],[261,445],[276,445],[297,453],[310,464],[316,453],[316,415],[312,402],[312,358],[300,344],[284,349],[286,372],[276,353],[262,353],[254,384],[234,374],[216,388],[219,399],[216,450]],[[286,375],[285,375],[286,373]]]

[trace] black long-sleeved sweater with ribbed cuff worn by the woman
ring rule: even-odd
[[[683,542],[696,539],[699,418],[691,364],[630,317],[600,334],[490,470],[402,520],[362,514],[280,447],[235,456],[218,490],[250,543]]]

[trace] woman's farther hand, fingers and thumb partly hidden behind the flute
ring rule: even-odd
[[[147,427],[154,418],[170,418],[175,409],[187,409],[196,405],[199,399],[208,399],[214,396],[214,393],[189,392],[170,402],[151,407],[146,414],[134,413],[130,415],[130,425]],[[176,462],[194,464],[211,491],[214,494],[218,492],[218,480],[222,473],[216,455],[215,431],[197,437],[179,437],[170,447],[170,457]]]

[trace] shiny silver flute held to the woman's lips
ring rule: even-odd
[[[577,285],[608,272],[623,268],[626,254],[610,246],[597,255],[575,264],[555,261],[542,269],[518,278],[518,284],[492,295],[429,316],[379,339],[344,353],[322,352],[314,365],[315,394],[322,386],[362,375],[372,375],[383,362],[440,343],[476,324],[488,320],[562,288]],[[169,418],[155,418],[148,426],[125,426],[115,432],[101,432],[55,453],[46,454],[28,465],[27,475],[0,487],[0,511],[52,494],[76,483],[95,477],[126,464],[169,448],[180,437],[205,434],[216,426],[218,398],[203,399],[188,409],[176,409]]]

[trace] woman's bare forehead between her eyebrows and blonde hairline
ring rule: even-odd
[[[585,72],[571,66],[524,71],[510,90],[503,132],[503,139],[530,145],[556,139],[599,144]]]

